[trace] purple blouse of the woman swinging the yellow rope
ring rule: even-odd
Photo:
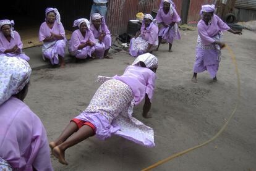
[[[197,28],[198,35],[205,45],[215,42],[212,37],[217,35],[220,31],[226,31],[230,29],[230,27],[228,27],[228,25],[224,23],[223,20],[221,20],[217,15],[213,15],[208,25],[203,20],[200,20],[197,24]]]

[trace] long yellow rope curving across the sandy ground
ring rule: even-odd
[[[199,144],[197,146],[194,146],[192,148],[189,148],[189,149],[186,149],[184,151],[181,151],[181,152],[177,152],[176,154],[173,154],[172,156],[166,158],[166,159],[163,159],[159,162],[156,162],[155,164],[153,165],[150,165],[149,167],[143,169],[142,171],[147,171],[147,170],[150,170],[150,169],[153,169],[155,167],[158,167],[158,165],[161,165],[161,164],[164,164],[165,162],[168,162],[168,161],[171,161],[172,159],[176,158],[176,157],[179,157],[179,156],[182,156],[190,151],[193,151],[194,149],[197,149],[197,148],[201,148],[202,146],[205,146],[206,144],[210,143],[211,141],[215,140],[219,135],[221,135],[221,133],[223,133],[223,131],[225,130],[225,128],[227,127],[228,123],[230,122],[230,120],[233,118],[236,110],[237,110],[237,107],[239,106],[239,103],[240,103],[240,98],[241,98],[241,85],[240,85],[240,77],[239,77],[239,71],[238,71],[238,67],[237,67],[237,62],[236,62],[236,57],[234,56],[234,52],[232,51],[231,48],[229,48],[228,45],[226,45],[226,48],[228,48],[228,51],[229,51],[229,54],[231,55],[231,58],[232,58],[232,61],[233,61],[233,64],[235,65],[235,68],[236,68],[236,76],[237,76],[237,102],[236,102],[236,106],[234,107],[234,110],[233,112],[231,113],[231,115],[229,116],[229,119],[226,121],[226,123],[224,123],[223,127],[221,127],[221,129],[218,131],[218,133],[216,133],[215,136],[213,136],[212,138],[210,138],[210,140],[207,140],[205,141],[204,143],[202,144]]]

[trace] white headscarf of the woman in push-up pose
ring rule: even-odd
[[[154,69],[158,67],[158,59],[153,54],[146,53],[138,56],[132,65],[140,65],[143,62],[148,69]]]

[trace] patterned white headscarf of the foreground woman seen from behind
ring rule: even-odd
[[[30,65],[20,57],[0,56],[0,105],[28,83]]]

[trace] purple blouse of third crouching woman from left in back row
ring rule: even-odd
[[[83,35],[82,35],[82,33],[79,29],[75,30],[72,33],[72,36],[71,36],[71,39],[70,39],[70,42],[69,42],[69,50],[71,52],[77,51],[79,45],[81,43],[86,43],[88,40],[90,40],[93,43],[96,42],[91,30],[86,31],[85,37],[83,37]]]

